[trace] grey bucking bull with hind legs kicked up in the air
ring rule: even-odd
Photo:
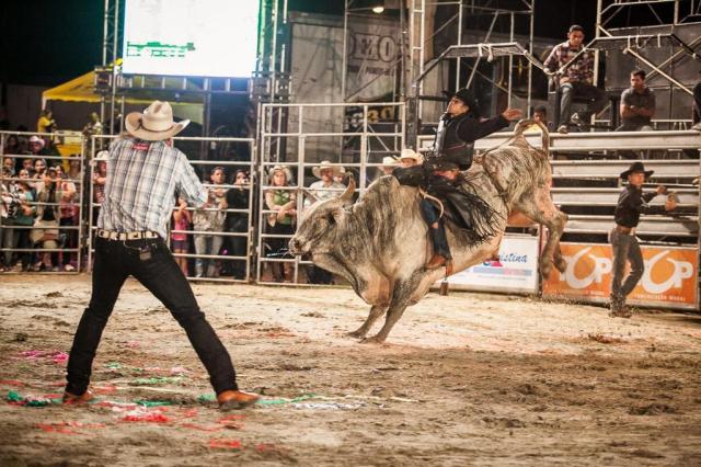
[[[486,151],[463,172],[463,190],[482,197],[494,210],[495,232],[474,244],[466,241],[449,219],[448,242],[453,271],[462,271],[498,251],[507,224],[542,224],[550,232],[540,260],[547,277],[552,265],[564,271],[560,237],[567,216],[550,196],[552,171],[548,155],[548,130],[543,149],[530,146],[522,133],[532,121],[517,124],[514,136]],[[289,242],[292,254],[311,254],[319,266],[347,280],[356,294],[371,305],[370,314],[357,330],[349,332],[363,342],[384,342],[404,309],[418,303],[429,287],[445,275],[445,267],[428,271],[430,258],[427,227],[420,212],[421,193],[400,185],[394,176],[382,176],[352,204],[355,182],[338,197],[314,203],[299,223]],[[372,323],[387,312],[384,326],[366,339]]]

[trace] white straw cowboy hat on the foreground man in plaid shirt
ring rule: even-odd
[[[143,113],[131,112],[124,122],[124,126],[131,136],[146,141],[162,141],[171,138],[188,124],[188,119],[173,122],[171,104],[161,101],[153,101]]]

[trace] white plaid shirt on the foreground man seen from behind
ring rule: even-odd
[[[118,138],[110,145],[105,198],[97,227],[151,230],[166,238],[175,193],[197,207],[208,197],[183,152],[164,141]]]

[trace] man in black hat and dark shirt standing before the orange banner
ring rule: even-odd
[[[633,162],[631,167],[621,172],[620,178],[628,180],[628,186],[623,189],[616,206],[616,227],[609,235],[609,241],[613,250],[613,278],[611,280],[611,312],[613,318],[630,318],[631,312],[625,308],[625,297],[633,292],[635,284],[643,276],[645,263],[643,254],[635,238],[635,227],[641,214],[664,214],[677,207],[674,195],[669,195],[665,206],[648,206],[647,203],[658,194],[666,194],[667,189],[657,186],[654,192],[643,193],[642,186],[645,179],[653,174],[652,170],[645,170],[642,162]],[[631,262],[631,272],[623,282],[625,261]],[[622,283],[622,285],[621,285]]]

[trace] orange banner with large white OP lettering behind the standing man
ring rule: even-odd
[[[608,303],[612,278],[611,247],[561,243],[561,249],[567,267],[564,273],[553,271],[543,283],[543,297]],[[645,272],[627,303],[645,307],[697,309],[698,250],[644,246],[641,249]]]

